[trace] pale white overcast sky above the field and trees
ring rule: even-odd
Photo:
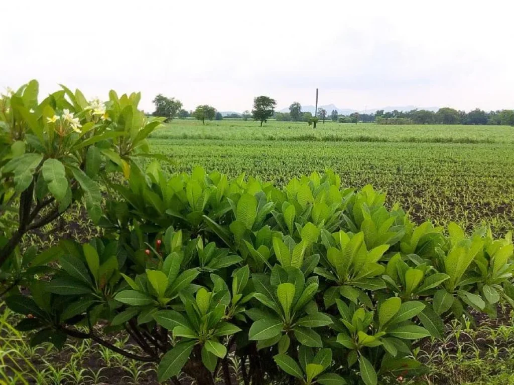
[[[511,0],[1,2],[0,92],[38,79],[186,109],[514,108]]]

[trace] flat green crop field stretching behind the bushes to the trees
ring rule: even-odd
[[[513,127],[174,120],[151,149],[170,172],[201,165],[282,183],[332,168],[346,186],[387,191],[415,220],[487,222],[498,235],[514,226]]]

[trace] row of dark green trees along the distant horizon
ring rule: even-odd
[[[193,111],[182,108],[182,103],[175,98],[167,98],[158,94],[153,100],[155,105],[154,116],[164,117],[167,120],[174,118],[195,118],[205,124],[205,120],[222,120],[221,112],[209,105],[199,105]],[[242,114],[232,113],[226,118],[253,119],[263,123],[268,119],[276,119],[281,122],[313,122],[332,120],[339,123],[373,123],[377,124],[465,124],[465,125],[508,125],[514,126],[514,110],[484,111],[476,108],[470,112],[458,111],[454,108],[439,108],[437,112],[430,110],[388,111],[377,110],[375,113],[354,112],[349,115],[340,115],[337,110],[330,114],[324,108],[318,108],[316,116],[311,112],[302,111],[299,102],[293,102],[289,106],[289,112],[275,111],[277,101],[265,95],[254,98],[252,111]]]

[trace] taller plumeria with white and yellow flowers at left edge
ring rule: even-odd
[[[0,297],[25,284],[57,248],[36,257],[20,250],[23,236],[59,218],[84,200],[90,219],[102,215],[99,186],[130,160],[150,156],[146,137],[161,122],[137,109],[140,94],[109,92],[88,102],[81,91],[61,86],[38,101],[35,80],[0,97]]]

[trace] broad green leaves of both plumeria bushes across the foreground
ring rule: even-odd
[[[77,100],[77,93],[59,92]],[[11,105],[24,107],[3,127],[41,124],[39,141],[46,140],[52,128],[44,118],[54,113],[44,112],[45,102],[34,104],[34,119],[21,93]],[[101,238],[63,240],[39,255],[15,248],[2,265],[10,286],[5,302],[26,316],[16,328],[30,331],[32,344],[60,348],[69,337],[93,339],[158,363],[159,380],[175,383],[184,372],[213,384],[221,365],[229,384],[227,354],[235,352],[245,383],[372,385],[379,376],[424,373],[412,350],[421,339],[441,337],[449,318],[471,310],[494,317],[499,301],[514,304],[511,234],[493,239],[487,229],[466,235],[454,223],[447,231],[417,226],[398,205],[386,207],[372,186],[341,189],[331,170],[284,188],[202,168],[169,177],[156,161],[142,170],[131,159],[137,151],[121,151],[121,143],[159,122],[136,120],[137,99],[112,96],[111,123],[94,121],[87,103],[77,102],[82,132],[93,119],[93,139],[66,139],[70,149],[60,158],[32,134],[17,140],[23,152],[11,143],[0,158],[7,187],[21,194],[18,225],[23,199],[31,211],[44,199],[63,207],[84,196],[104,229]],[[126,106],[116,109],[122,101]],[[128,107],[131,114],[123,112]],[[69,138],[80,136],[74,132]],[[94,164],[105,167],[87,172],[88,146],[101,154]],[[16,166],[27,156],[30,163]],[[111,167],[125,180],[99,177]],[[113,191],[103,209],[89,180]],[[68,188],[80,191],[65,198]],[[130,335],[138,352],[111,344],[114,333]]]

